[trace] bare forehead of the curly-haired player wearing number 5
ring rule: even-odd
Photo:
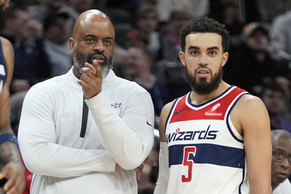
[[[222,49],[222,37],[216,33],[192,33],[186,36],[186,49],[190,45],[199,47],[213,47],[217,46]]]

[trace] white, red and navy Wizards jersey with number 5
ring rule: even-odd
[[[166,122],[167,194],[249,193],[243,137],[229,117],[248,92],[231,86],[200,105],[190,93],[175,101]]]

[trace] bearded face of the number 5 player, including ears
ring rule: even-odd
[[[222,82],[222,66],[228,52],[222,50],[222,37],[216,33],[193,33],[186,36],[185,53],[180,60],[186,66],[186,76],[192,90],[206,95]]]

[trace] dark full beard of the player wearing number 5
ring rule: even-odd
[[[208,69],[210,75],[212,75],[212,70],[207,66],[200,65],[195,69],[194,75],[190,74],[186,68],[186,78],[189,85],[191,86],[192,91],[199,95],[207,95],[218,89],[219,84],[222,82],[222,67],[220,67],[219,72],[214,74],[210,82],[207,82],[207,78],[199,78],[199,81],[196,81],[196,72],[199,69]]]

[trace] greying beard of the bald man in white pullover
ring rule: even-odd
[[[110,57],[107,55],[104,55],[102,52],[93,52],[86,55],[82,52],[79,52],[79,49],[75,47],[74,52],[73,52],[74,66],[80,70],[83,67],[85,67],[85,62],[93,65],[92,57],[94,55],[102,55],[104,57],[104,62],[99,62],[99,65],[102,69],[102,76],[103,78],[105,78],[106,75],[108,75],[110,69],[113,69],[114,54],[111,55]]]

